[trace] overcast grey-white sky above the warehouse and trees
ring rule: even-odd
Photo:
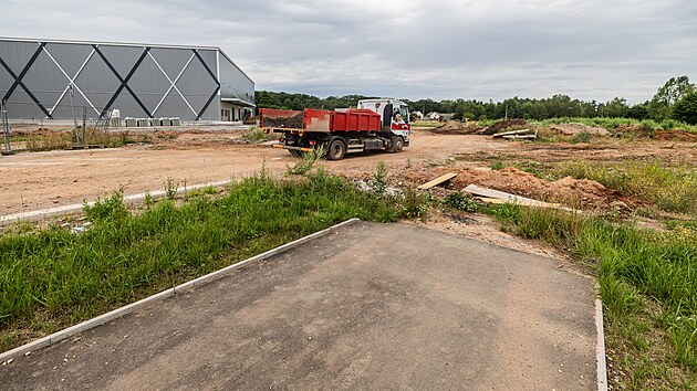
[[[630,103],[697,82],[695,0],[0,0],[0,35],[220,46],[257,89]]]

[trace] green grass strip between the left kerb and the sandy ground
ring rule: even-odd
[[[386,201],[316,173],[247,178],[218,197],[128,210],[117,193],[85,208],[93,226],[0,235],[0,351],[350,218],[394,221]]]

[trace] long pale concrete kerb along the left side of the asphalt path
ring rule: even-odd
[[[54,345],[54,344],[56,344],[59,341],[62,341],[63,339],[70,338],[72,336],[76,335],[76,334],[90,330],[90,329],[95,328],[97,326],[101,326],[101,325],[103,325],[103,324],[105,324],[105,323],[107,323],[110,320],[113,320],[113,319],[119,318],[119,317],[122,317],[124,315],[131,314],[131,313],[135,311],[136,309],[139,309],[142,307],[150,305],[150,304],[153,304],[155,302],[163,300],[163,299],[165,299],[167,297],[175,296],[175,295],[178,295],[178,294],[183,294],[183,293],[185,293],[187,290],[194,289],[194,288],[199,287],[201,285],[206,285],[208,283],[211,283],[211,282],[216,281],[216,279],[222,278],[226,275],[232,273],[233,271],[242,268],[242,267],[245,267],[246,265],[248,265],[250,263],[269,258],[269,257],[271,257],[273,255],[277,255],[277,254],[280,254],[282,252],[285,252],[285,251],[288,251],[290,249],[293,249],[293,247],[295,247],[298,245],[301,245],[301,244],[306,243],[309,241],[312,241],[314,239],[324,236],[324,235],[326,235],[326,234],[329,234],[329,233],[331,233],[333,231],[336,231],[340,228],[351,225],[351,224],[356,223],[358,221],[361,221],[361,219],[354,218],[354,219],[346,220],[343,223],[339,223],[336,225],[332,225],[332,226],[330,226],[330,228],[327,228],[325,230],[322,230],[322,231],[315,232],[313,234],[310,234],[308,236],[298,239],[298,240],[295,240],[293,242],[283,244],[283,245],[278,246],[275,249],[271,249],[271,250],[269,250],[269,251],[267,251],[264,253],[261,253],[259,255],[254,255],[254,256],[252,256],[250,258],[247,258],[245,261],[241,261],[241,262],[235,263],[232,265],[226,266],[226,267],[223,267],[223,268],[221,268],[221,270],[219,270],[217,272],[212,272],[210,274],[207,274],[205,276],[198,277],[196,279],[191,279],[191,281],[189,281],[187,283],[177,285],[177,286],[175,286],[173,288],[169,288],[169,289],[163,290],[160,293],[157,293],[155,295],[148,296],[148,297],[146,297],[144,299],[141,299],[138,302],[128,304],[128,305],[126,305],[124,307],[116,308],[116,309],[114,309],[112,311],[108,311],[108,313],[106,313],[104,315],[100,315],[96,318],[92,318],[92,319],[85,320],[85,321],[80,323],[80,324],[77,324],[75,326],[71,326],[71,327],[69,327],[66,329],[63,329],[63,330],[56,331],[54,334],[51,334],[49,336],[45,336],[43,338],[37,339],[35,341],[22,345],[22,346],[17,347],[17,348],[14,348],[12,350],[8,350],[6,352],[0,353],[0,362],[6,362],[8,360],[14,359],[14,358],[20,357],[22,355],[27,355],[27,353],[29,353],[31,351],[35,351],[38,349],[43,349],[43,348],[49,347],[51,345]]]

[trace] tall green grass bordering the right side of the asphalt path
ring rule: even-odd
[[[570,251],[597,277],[615,385],[697,387],[697,230],[657,233],[511,204],[489,212],[519,235]]]

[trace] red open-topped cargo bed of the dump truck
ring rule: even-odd
[[[259,126],[274,131],[300,130],[318,133],[379,131],[379,114],[370,109],[346,112],[305,108],[299,110],[259,109]]]

